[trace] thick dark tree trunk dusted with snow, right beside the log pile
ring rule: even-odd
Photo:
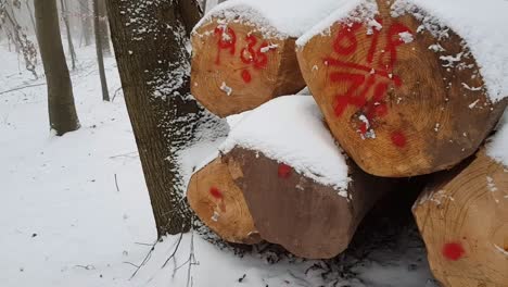
[[[179,37],[186,30],[179,2],[106,3],[122,86],[158,235],[186,232],[190,228],[191,213],[182,201],[175,150],[192,138],[200,109],[188,97],[189,39]]]

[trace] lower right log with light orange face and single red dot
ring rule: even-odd
[[[482,149],[415,203],[434,276],[446,287],[508,286],[508,170]]]

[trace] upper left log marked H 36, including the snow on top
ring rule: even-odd
[[[336,9],[335,0],[230,0],[196,25],[192,95],[212,113],[252,110],[306,86],[295,39]]]

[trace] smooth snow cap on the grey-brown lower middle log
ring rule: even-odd
[[[312,97],[280,97],[249,112],[236,123],[220,150],[226,153],[234,147],[263,152],[347,196],[345,158]]]

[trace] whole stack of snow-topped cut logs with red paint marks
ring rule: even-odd
[[[332,258],[398,178],[430,175],[414,215],[435,277],[508,286],[508,136],[485,144],[508,103],[493,38],[508,29],[455,25],[436,1],[319,0],[306,18],[271,2],[227,1],[192,34],[195,98],[218,116],[253,110],[192,177],[198,216],[231,242]]]

